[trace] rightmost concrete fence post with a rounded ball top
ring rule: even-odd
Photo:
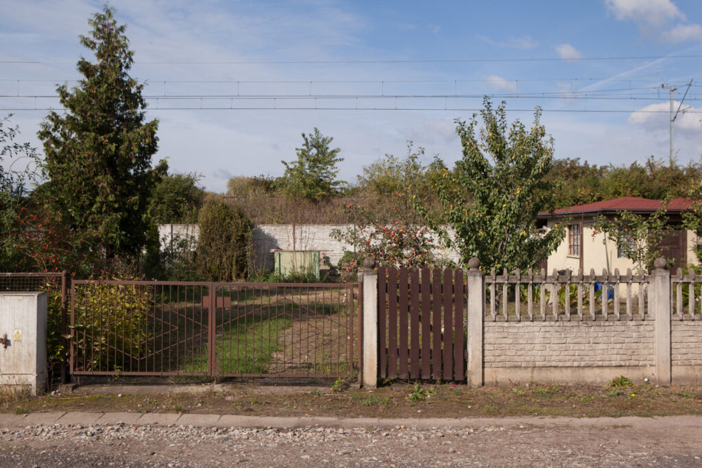
[[[670,385],[670,272],[665,258],[656,258],[651,274],[649,314],[654,316],[654,364],[656,383]]]

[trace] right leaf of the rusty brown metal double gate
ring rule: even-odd
[[[213,375],[353,377],[356,285],[227,283],[216,294]]]

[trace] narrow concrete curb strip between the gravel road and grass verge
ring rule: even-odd
[[[288,429],[296,427],[378,427],[392,428],[404,426],[408,429],[430,429],[432,427],[463,428],[472,427],[622,427],[654,425],[659,429],[665,427],[702,428],[702,416],[665,416],[665,417],[462,417],[462,418],[397,418],[378,417],[275,417],[243,416],[182,413],[88,413],[88,412],[50,412],[28,413],[25,415],[0,414],[0,428],[17,429],[32,425],[50,424],[131,424],[135,426],[194,426],[194,427],[271,427]]]

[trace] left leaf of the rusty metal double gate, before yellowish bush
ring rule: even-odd
[[[209,375],[210,284],[73,281],[71,373]]]

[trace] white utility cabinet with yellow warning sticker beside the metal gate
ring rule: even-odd
[[[0,293],[0,386],[46,388],[46,293]]]

